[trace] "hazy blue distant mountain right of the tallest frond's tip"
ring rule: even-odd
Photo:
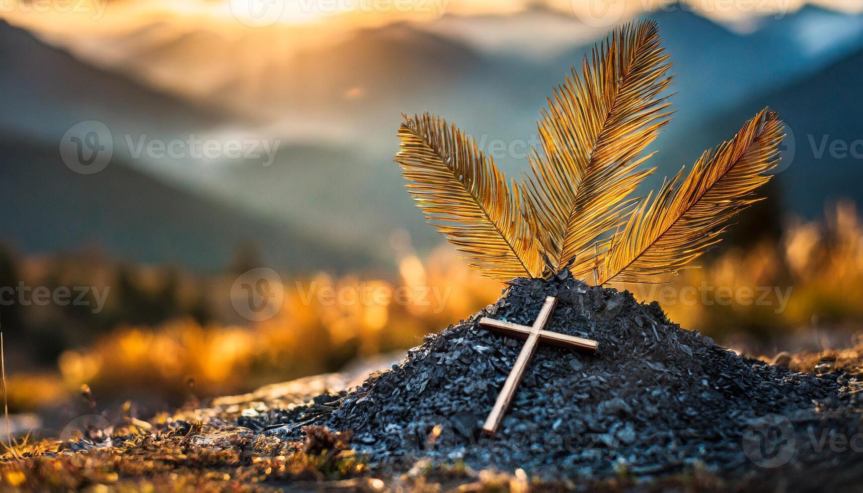
[[[677,74],[672,99],[678,112],[669,132],[817,73],[863,47],[863,16],[815,7],[754,19],[746,34],[682,10],[655,18]]]

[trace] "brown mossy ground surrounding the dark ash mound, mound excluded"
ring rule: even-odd
[[[833,372],[853,379],[863,372],[863,344],[841,351],[780,356],[777,363],[802,372]],[[91,430],[89,439],[41,440],[3,456],[3,490],[747,490],[784,489],[781,475],[722,478],[699,468],[639,482],[624,469],[592,484],[544,481],[522,471],[476,471],[463,464],[419,460],[408,471],[381,474],[350,448],[350,433],[307,429],[304,441],[287,441],[231,424],[308,401],[356,382],[329,374],[268,386],[248,395],[216,399],[207,408],[185,408],[145,423],[129,420],[113,430]],[[110,434],[103,441],[103,433]],[[824,465],[818,474],[831,473]],[[833,471],[847,474],[848,471]],[[854,474],[860,474],[859,471]],[[791,488],[792,490],[795,488]]]

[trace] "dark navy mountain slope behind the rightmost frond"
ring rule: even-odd
[[[816,218],[826,203],[838,199],[863,204],[863,100],[853,89],[863,86],[860,66],[863,50],[777,91],[748,98],[690,130],[665,156],[683,161],[715,146],[719,141],[711,141],[713,136],[727,140],[746,119],[770,106],[788,134],[776,177],[784,209]]]

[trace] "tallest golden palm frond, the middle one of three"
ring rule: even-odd
[[[533,149],[524,193],[528,216],[553,271],[570,266],[581,277],[593,262],[596,238],[625,220],[627,196],[652,169],[639,158],[666,123],[670,104],[658,94],[671,82],[671,63],[656,22],[619,28],[583,60],[581,77],[557,87],[538,123],[545,158]],[[585,259],[588,255],[591,258]]]

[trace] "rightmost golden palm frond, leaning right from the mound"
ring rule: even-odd
[[[715,153],[707,150],[683,180],[665,182],[656,199],[642,199],[614,237],[598,284],[653,281],[683,268],[720,241],[728,219],[758,201],[782,141],[778,114],[762,110]],[[678,185],[679,183],[679,185]]]

